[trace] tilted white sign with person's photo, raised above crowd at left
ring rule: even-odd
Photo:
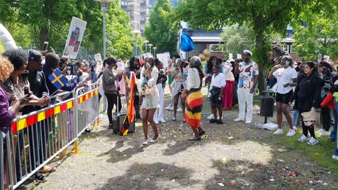
[[[65,50],[63,56],[68,58],[76,58],[80,50],[84,30],[86,30],[87,22],[79,18],[73,17],[70,23],[67,42],[65,43]]]

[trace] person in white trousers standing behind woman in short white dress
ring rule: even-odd
[[[155,59],[155,65],[158,69],[158,79],[156,82],[156,87],[158,89],[158,94],[160,96],[160,108],[156,109],[155,115],[154,115],[154,121],[156,124],[159,122],[165,122],[163,113],[164,113],[164,84],[165,81],[167,81],[167,77],[165,76],[165,72],[163,72],[163,63],[158,60],[158,58]]]

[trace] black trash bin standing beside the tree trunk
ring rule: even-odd
[[[264,123],[267,122],[268,117],[273,117],[273,104],[275,103],[274,91],[262,91],[261,96],[261,110],[259,115],[265,117]]]

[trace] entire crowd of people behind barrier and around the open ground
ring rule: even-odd
[[[135,75],[137,84],[134,84],[134,114],[137,120],[142,120],[144,141],[142,144],[155,143],[160,138],[157,124],[165,122],[164,110],[173,110],[173,122],[177,121],[177,111],[182,111],[187,125],[192,127],[194,137],[189,141],[200,141],[206,133],[201,128],[201,115],[203,107],[203,84],[208,88],[208,99],[211,109],[208,117],[210,123],[223,124],[223,110],[232,110],[239,105],[239,115],[235,122],[252,122],[253,95],[258,84],[258,64],[251,60],[252,53],[244,50],[242,58],[237,60],[221,60],[211,56],[203,66],[197,56],[184,60],[180,56],[173,56],[168,68],[152,56],[144,58],[132,57],[127,61],[123,58],[108,57],[104,61],[74,61],[69,70],[68,58],[59,57],[56,53],[39,52],[35,50],[23,51],[14,49],[6,51],[0,56],[0,130],[8,132],[11,122],[18,115],[32,113],[45,108],[57,101],[71,98],[62,96],[61,99],[50,97],[63,91],[74,91],[81,87],[88,87],[92,82],[101,78],[99,97],[104,98],[104,111],[108,115],[108,129],[113,129],[113,108],[120,112],[123,103],[130,97],[129,77]],[[296,134],[297,122],[301,123],[303,135],[299,141],[307,141],[309,145],[318,144],[315,137],[315,125],[320,123],[321,136],[330,135],[331,141],[337,141],[338,113],[337,103],[332,94],[338,91],[338,75],[336,69],[325,59],[320,63],[294,63],[291,56],[278,54],[275,65],[267,75],[270,89],[276,92],[277,125],[275,135],[283,134],[282,115],[287,119],[289,131],[287,137]],[[76,70],[73,68],[77,68]],[[48,79],[51,73],[60,70],[68,77],[68,83],[58,89]],[[73,73],[73,74],[71,74]],[[167,83],[168,81],[168,83]],[[204,81],[204,82],[203,82]],[[165,85],[169,85],[171,99],[169,106],[164,105]],[[294,113],[291,117],[290,106]],[[315,111],[320,109],[320,120],[315,118]],[[331,113],[331,110],[332,113]],[[334,116],[334,127],[331,114]],[[46,121],[48,122],[48,121]],[[148,137],[148,126],[154,132],[154,137]],[[30,167],[34,169],[46,160],[43,151],[46,150],[48,130],[42,129],[46,125],[35,125],[24,129],[30,141],[38,142],[31,148],[31,154],[39,156],[30,160]],[[37,127],[37,129],[35,129]],[[90,132],[86,129],[85,132]],[[309,133],[309,134],[308,134]],[[24,141],[18,137],[15,165],[20,168],[20,156],[23,152]],[[36,151],[36,152],[33,152]],[[338,160],[337,147],[332,158]],[[46,180],[42,175],[45,172],[54,172],[55,167],[45,165],[42,170],[35,173],[35,179]],[[16,171],[17,180],[20,181],[20,170]]]

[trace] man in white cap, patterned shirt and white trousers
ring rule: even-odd
[[[239,63],[238,68],[236,68],[237,73],[239,73],[238,81],[238,104],[239,104],[239,115],[238,118],[234,121],[244,121],[245,108],[246,108],[246,121],[245,123],[249,124],[252,120],[252,110],[253,110],[253,91],[256,88],[258,81],[258,65],[257,63],[251,61],[252,53],[249,50],[244,50],[242,54],[243,62]]]

